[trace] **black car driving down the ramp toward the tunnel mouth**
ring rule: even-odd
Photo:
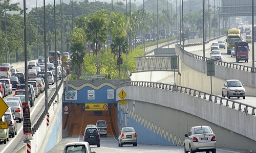
[[[84,130],[83,141],[87,141],[90,145],[97,145],[100,147],[99,132],[97,127],[86,127]]]

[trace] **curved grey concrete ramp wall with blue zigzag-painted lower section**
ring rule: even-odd
[[[138,143],[181,146],[191,126],[209,125],[217,147],[256,151],[255,116],[184,93],[138,86],[116,92],[122,89],[127,104],[117,105],[118,131],[135,127]]]

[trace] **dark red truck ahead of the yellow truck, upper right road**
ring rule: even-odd
[[[249,45],[247,42],[239,41],[234,43],[234,54],[236,55],[237,63],[239,61],[245,61],[248,63]]]

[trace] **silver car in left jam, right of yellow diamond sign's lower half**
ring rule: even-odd
[[[17,122],[15,120],[15,113],[12,113],[11,109],[8,108],[4,115],[8,122],[9,135],[12,135],[14,138],[15,135],[17,135]]]

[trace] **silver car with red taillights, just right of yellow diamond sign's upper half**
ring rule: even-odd
[[[23,108],[18,100],[9,100],[5,102],[8,107],[11,108],[12,112],[15,112],[15,119],[18,119],[18,122],[23,121]]]

